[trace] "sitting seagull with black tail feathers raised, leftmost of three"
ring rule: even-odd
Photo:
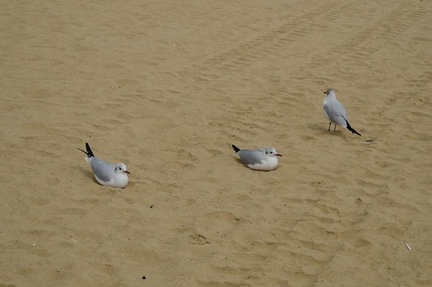
[[[86,153],[87,156],[84,157],[84,159],[87,160],[90,167],[92,167],[97,182],[110,187],[119,187],[120,189],[124,189],[126,185],[128,185],[129,180],[126,173],[130,172],[126,169],[126,164],[123,162],[113,164],[96,158],[87,142],[86,149],[87,151],[79,150]]]

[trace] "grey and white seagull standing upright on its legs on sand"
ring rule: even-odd
[[[327,89],[324,94],[326,94],[326,97],[322,101],[322,109],[324,110],[324,115],[326,115],[328,120],[330,120],[328,130],[330,131],[331,123],[333,123],[335,124],[335,129],[333,129],[333,131],[336,130],[336,125],[340,125],[341,127],[348,129],[348,131],[352,131],[353,134],[362,136],[357,133],[351,125],[349,125],[348,117],[346,116],[346,109],[341,103],[339,103],[339,100],[336,99],[335,91],[333,89]]]

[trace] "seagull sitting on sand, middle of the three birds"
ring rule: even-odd
[[[276,156],[282,156],[273,147],[266,149],[239,149],[233,145],[235,153],[240,157],[240,160],[246,167],[256,169],[258,171],[273,171],[277,167]]]

